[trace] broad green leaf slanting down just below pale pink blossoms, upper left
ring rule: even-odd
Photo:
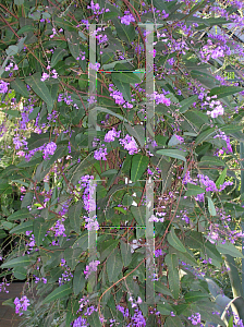
[[[40,81],[41,75],[39,72],[33,74],[32,76],[25,77],[25,83],[28,84],[32,89],[47,104],[48,112],[51,112],[53,108],[53,100],[49,93],[49,89],[45,82]]]

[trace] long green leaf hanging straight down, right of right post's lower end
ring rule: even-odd
[[[175,254],[167,254],[164,263],[168,267],[168,280],[170,290],[172,291],[173,298],[178,299],[180,294],[180,277],[179,277],[179,265],[178,256]]]

